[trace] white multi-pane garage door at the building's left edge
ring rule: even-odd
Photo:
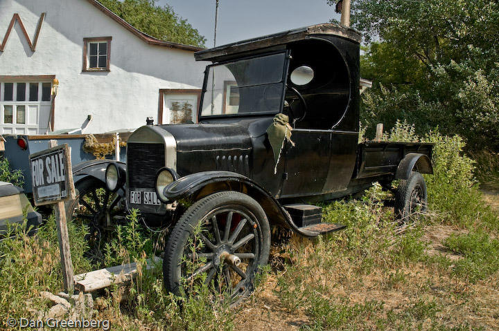
[[[0,134],[38,134],[49,126],[51,82],[0,82]]]

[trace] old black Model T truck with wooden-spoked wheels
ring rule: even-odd
[[[355,30],[321,24],[195,53],[213,62],[199,123],[142,126],[128,140],[126,165],[80,168],[101,181],[105,169],[107,190],[127,209],[139,209],[149,227],[169,227],[169,291],[179,294],[181,279],[205,274],[234,299],[248,294],[268,261],[271,225],[306,237],[342,229],[322,223],[313,203],[372,182],[388,188],[401,180],[400,218],[424,205],[431,144],[358,144],[359,45]],[[112,223],[112,208],[94,221]],[[202,245],[191,249],[200,227]],[[202,263],[189,271],[193,254]]]

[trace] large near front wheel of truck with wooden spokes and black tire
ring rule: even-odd
[[[252,292],[269,249],[268,220],[258,202],[239,192],[214,193],[175,225],[165,249],[166,288],[180,295],[204,284],[234,305]]]

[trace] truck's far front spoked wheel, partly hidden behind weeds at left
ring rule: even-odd
[[[85,256],[96,263],[103,262],[103,247],[110,240],[116,221],[125,216],[123,199],[96,178],[80,180],[75,189],[76,199],[66,204],[67,219],[87,226],[89,249]]]

